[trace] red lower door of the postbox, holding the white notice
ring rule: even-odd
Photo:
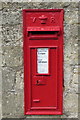
[[[58,47],[31,48],[31,109],[57,109]]]

